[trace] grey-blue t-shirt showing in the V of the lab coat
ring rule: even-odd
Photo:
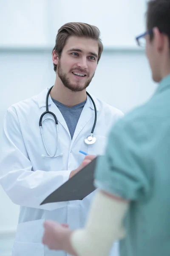
[[[68,130],[70,131],[71,139],[73,138],[74,131],[77,126],[77,122],[79,120],[80,114],[82,113],[82,109],[84,108],[85,102],[81,102],[71,108],[63,105],[55,99],[52,99],[59,111],[62,113],[62,116],[65,119],[65,122],[68,126]]]

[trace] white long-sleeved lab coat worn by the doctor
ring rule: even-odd
[[[71,170],[76,169],[84,155],[103,154],[108,131],[122,112],[98,99],[97,122],[94,145],[86,145],[84,138],[91,134],[94,124],[94,106],[91,100],[82,110],[74,137],[71,136],[65,120],[49,96],[49,111],[57,116],[59,125],[59,147],[57,158],[42,158],[46,155],[40,134],[39,119],[45,111],[45,98],[48,88],[39,95],[24,100],[8,108],[3,125],[2,152],[0,161],[0,184],[14,204],[20,205],[19,223],[14,241],[12,256],[66,256],[63,251],[48,250],[42,244],[43,222],[52,219],[68,223],[71,229],[83,227],[94,193],[82,201],[62,203],[40,203],[57,187],[68,180]],[[48,116],[45,116],[45,119]],[[49,116],[51,118],[51,116]],[[45,143],[51,154],[56,148],[56,129],[51,120],[43,123]],[[12,214],[12,212],[11,212]],[[117,246],[117,245],[116,245]],[[115,246],[113,248],[115,249]],[[116,254],[114,256],[118,255]],[[113,255],[113,253],[111,253]]]

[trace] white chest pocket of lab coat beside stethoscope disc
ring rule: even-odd
[[[103,155],[108,138],[99,135],[94,136],[96,137],[96,142],[92,145],[88,145],[88,154]]]

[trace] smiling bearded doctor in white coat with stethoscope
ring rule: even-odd
[[[54,86],[12,105],[6,113],[0,184],[11,201],[20,205],[12,256],[68,255],[42,244],[44,220],[66,223],[71,229],[85,224],[95,192],[82,201],[40,203],[95,155],[103,154],[111,125],[123,116],[86,92],[102,49],[95,26],[63,25],[52,53]],[[53,121],[58,122],[58,131]],[[84,158],[79,150],[88,155]]]

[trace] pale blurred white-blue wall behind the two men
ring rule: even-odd
[[[104,44],[88,92],[124,113],[156,90],[144,49],[146,0],[0,0],[0,140],[7,108],[54,84],[51,51],[60,26],[96,25]],[[19,206],[0,187],[0,256],[11,256]]]

